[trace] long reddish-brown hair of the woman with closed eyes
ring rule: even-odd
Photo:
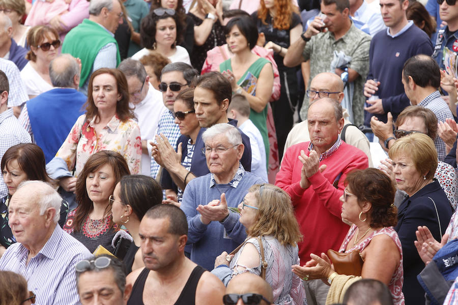
[[[113,150],[101,150],[89,157],[88,161],[84,164],[82,171],[76,179],[76,202],[78,202],[78,209],[76,210],[75,221],[73,222],[73,230],[79,231],[92,211],[94,205],[88,195],[86,189],[86,177],[99,169],[101,166],[109,164],[113,173],[115,174],[115,189],[116,184],[125,175],[130,175],[129,166],[126,160],[120,153]],[[110,205],[107,206],[110,208]],[[113,222],[110,220],[110,228]]]

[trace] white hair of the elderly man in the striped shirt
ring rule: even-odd
[[[30,185],[33,187],[33,193],[30,196],[37,198],[37,204],[40,207],[40,215],[44,215],[45,211],[52,207],[55,209],[55,215],[52,219],[54,224],[59,222],[61,218],[61,205],[62,205],[62,197],[56,192],[47,182],[41,180],[26,180],[22,181],[17,188],[19,191],[22,187]],[[34,186],[32,186],[34,185]]]

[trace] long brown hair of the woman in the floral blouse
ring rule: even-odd
[[[109,68],[96,70],[92,73],[91,78],[89,78],[88,101],[84,104],[86,107],[86,118],[90,120],[99,114],[94,103],[94,98],[92,97],[92,83],[94,78],[101,74],[109,74],[116,79],[118,94],[121,95],[121,100],[116,103],[116,115],[118,115],[118,118],[123,122],[127,121],[129,118],[135,118],[133,108],[129,106],[129,87],[127,86],[126,76],[119,69]]]

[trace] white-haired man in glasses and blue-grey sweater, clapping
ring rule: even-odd
[[[202,153],[210,173],[188,183],[181,209],[188,220],[191,260],[212,270],[215,257],[223,251],[231,252],[246,238],[240,215],[228,207],[237,207],[252,185],[264,181],[240,164],[244,145],[236,127],[216,124],[202,138]]]

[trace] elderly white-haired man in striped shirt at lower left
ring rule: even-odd
[[[17,242],[0,259],[0,270],[22,275],[36,295],[35,304],[80,304],[75,265],[91,253],[57,225],[61,201],[46,182],[25,181],[8,206]]]

